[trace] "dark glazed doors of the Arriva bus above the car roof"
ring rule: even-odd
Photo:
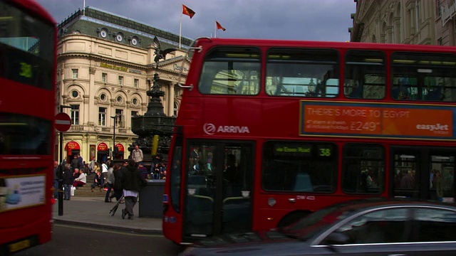
[[[392,146],[390,191],[393,197],[455,201],[456,149]]]

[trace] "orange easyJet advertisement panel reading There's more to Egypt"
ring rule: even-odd
[[[455,140],[454,107],[301,101],[301,136]]]

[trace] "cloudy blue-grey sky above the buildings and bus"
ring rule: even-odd
[[[84,6],[84,0],[36,1],[58,23]],[[86,0],[85,3],[190,39],[217,36],[349,41],[351,14],[356,11],[353,0]],[[182,4],[195,11],[195,16],[182,15]],[[226,31],[216,31],[215,21]]]

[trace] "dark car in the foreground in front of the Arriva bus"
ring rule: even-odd
[[[456,207],[348,201],[286,228],[201,240],[181,255],[456,255]]]

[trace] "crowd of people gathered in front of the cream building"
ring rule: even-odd
[[[95,159],[90,163],[83,161],[80,155],[73,156],[71,162],[63,161],[63,200],[71,200],[71,191],[78,187],[85,186],[87,176],[93,174],[93,183],[91,191],[103,189],[105,193],[105,202],[109,203],[115,198],[119,203],[125,203],[125,209],[122,210],[122,218],[126,216],[133,219],[133,207],[138,201],[140,186],[145,185],[148,179],[165,179],[166,164],[160,156],[152,159],[150,169],[147,169],[142,162],[143,156],[141,149],[136,146],[131,156],[125,161],[116,161],[114,163],[109,158],[107,161],[101,161],[101,164]],[[54,161],[54,197],[58,197],[58,162]]]

